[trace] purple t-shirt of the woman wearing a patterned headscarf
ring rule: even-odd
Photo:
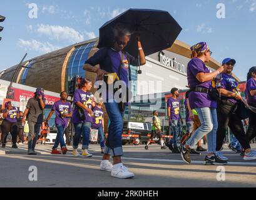
[[[193,58],[188,63],[187,75],[188,75],[188,86],[190,89],[195,87],[212,89],[212,81],[205,81],[201,83],[196,78],[198,73],[210,73],[210,69],[205,66],[205,63],[199,58]],[[188,96],[191,109],[195,108],[217,108],[217,102],[213,101],[210,94],[198,93],[195,91],[190,92]]]

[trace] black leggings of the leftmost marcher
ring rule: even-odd
[[[18,124],[17,123],[11,123],[7,120],[4,120],[2,125],[2,143],[6,144],[6,139],[9,133],[11,133],[11,138],[13,141],[13,144],[17,143],[17,136],[18,136]]]

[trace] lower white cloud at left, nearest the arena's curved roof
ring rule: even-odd
[[[58,46],[54,46],[49,42],[39,42],[39,41],[36,41],[35,39],[31,39],[31,40],[19,39],[18,45],[20,47],[23,47],[27,51],[32,50],[32,51],[38,51],[39,53],[49,53],[51,51],[55,51],[61,48]]]

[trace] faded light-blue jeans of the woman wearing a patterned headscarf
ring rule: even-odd
[[[188,139],[186,145],[193,148],[203,136],[207,135],[208,153],[215,153],[218,129],[217,111],[215,108],[196,108],[195,110],[198,113],[201,126]]]

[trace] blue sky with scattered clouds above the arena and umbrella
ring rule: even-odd
[[[38,6],[38,18],[29,17],[29,4]],[[225,5],[225,18],[218,19],[217,4]],[[25,53],[34,58],[49,51],[98,36],[106,21],[129,8],[170,12],[183,27],[178,39],[187,44],[207,41],[213,58],[237,60],[235,74],[245,80],[256,66],[256,0],[1,0],[0,70],[19,63]]]

